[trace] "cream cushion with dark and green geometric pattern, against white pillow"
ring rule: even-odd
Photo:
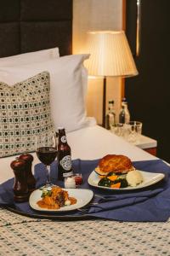
[[[0,157],[35,150],[37,134],[54,131],[49,73],[8,86],[0,82]]]

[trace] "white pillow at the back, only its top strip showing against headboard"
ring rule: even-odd
[[[0,58],[0,67],[14,67],[59,58],[59,48],[42,49],[21,55]]]

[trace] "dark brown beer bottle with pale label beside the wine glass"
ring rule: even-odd
[[[65,177],[70,177],[73,174],[71,166],[71,147],[67,143],[67,139],[65,136],[65,128],[59,127],[58,130],[58,179],[64,180]]]

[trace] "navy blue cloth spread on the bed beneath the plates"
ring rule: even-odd
[[[119,221],[166,221],[170,217],[170,167],[162,160],[147,160],[133,162],[133,166],[145,172],[161,172],[165,174],[164,180],[150,187],[139,190],[106,190],[91,187],[88,184],[88,176],[98,165],[99,160],[73,160],[75,172],[82,172],[83,183],[81,188],[94,191],[95,203],[87,207],[87,211],[69,212],[71,216],[82,214],[108,218]],[[57,181],[57,163],[54,162],[51,172],[53,183],[63,187],[63,183]],[[35,167],[37,188],[46,181],[46,172],[42,164]],[[21,212],[37,215],[38,212],[31,209],[29,203],[14,203],[12,185],[13,179],[0,185],[0,205],[14,205]],[[96,195],[96,196],[95,196]],[[96,204],[97,203],[97,204]],[[54,213],[59,214],[59,213]],[[68,212],[62,213],[68,215]]]

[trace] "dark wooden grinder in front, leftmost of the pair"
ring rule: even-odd
[[[26,161],[16,159],[11,162],[11,168],[14,171],[14,201],[28,201],[28,185],[26,183]]]

